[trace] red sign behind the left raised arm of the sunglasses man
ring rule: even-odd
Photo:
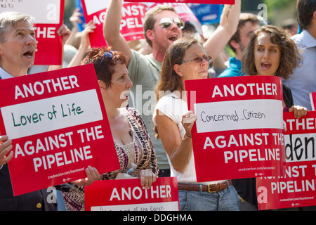
[[[103,23],[108,1],[98,1],[98,4],[96,4],[95,0],[84,0],[82,5],[86,22],[93,20],[93,23],[96,24],[94,32],[89,34],[91,46],[106,46],[103,37]],[[123,4],[120,32],[126,41],[145,38],[143,34],[143,17],[147,8],[143,3]]]

